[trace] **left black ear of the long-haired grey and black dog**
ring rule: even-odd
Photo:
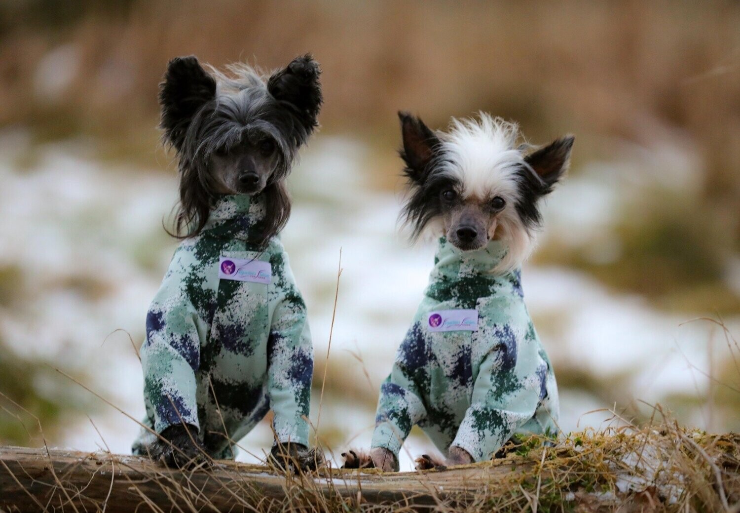
[[[167,64],[164,81],[159,84],[162,107],[160,127],[169,144],[180,150],[193,115],[216,95],[215,79],[203,69],[195,56],[175,57]]]

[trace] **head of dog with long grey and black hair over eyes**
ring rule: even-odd
[[[178,231],[200,232],[218,195],[263,193],[262,244],[289,215],[284,179],[317,127],[320,69],[306,55],[268,77],[242,64],[229,72],[178,57],[160,84],[161,128],[181,172]]]

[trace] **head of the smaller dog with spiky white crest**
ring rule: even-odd
[[[403,213],[414,238],[431,230],[464,251],[500,240],[508,253],[494,271],[519,266],[542,221],[539,200],[568,169],[573,136],[531,151],[517,146],[516,124],[485,113],[438,133],[413,115],[399,117],[410,188]]]

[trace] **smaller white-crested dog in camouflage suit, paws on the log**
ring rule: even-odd
[[[347,468],[398,469],[420,426],[445,459],[488,460],[514,435],[556,432],[554,372],[523,301],[519,266],[534,246],[540,202],[568,168],[573,137],[536,149],[517,124],[480,113],[432,132],[399,113],[414,238],[439,238],[429,284],[383,382],[369,454]]]

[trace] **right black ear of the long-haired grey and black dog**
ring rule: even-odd
[[[267,90],[273,98],[288,107],[303,125],[305,135],[296,138],[299,145],[318,126],[317,117],[323,102],[320,74],[319,64],[307,53],[272,73],[267,81]]]

